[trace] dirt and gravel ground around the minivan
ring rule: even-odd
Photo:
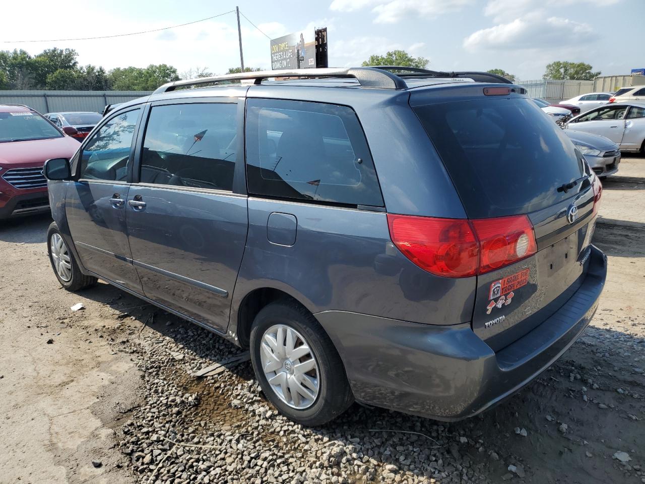
[[[521,392],[449,425],[358,405],[323,429],[290,424],[249,363],[190,375],[230,343],[104,283],[66,292],[48,217],[3,223],[0,483],[645,482],[645,224],[629,215],[645,183],[604,190],[601,214],[631,224],[597,226],[609,272],[590,327]]]

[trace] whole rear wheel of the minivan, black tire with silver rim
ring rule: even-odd
[[[255,376],[277,410],[309,427],[323,425],[352,404],[341,357],[313,315],[294,301],[264,307],[251,329]]]

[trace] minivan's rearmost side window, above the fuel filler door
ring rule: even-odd
[[[361,125],[346,106],[248,99],[246,174],[252,194],[383,206]]]

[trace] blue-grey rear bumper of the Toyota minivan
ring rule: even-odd
[[[476,415],[546,370],[593,318],[607,274],[591,246],[588,275],[551,318],[494,352],[470,325],[408,323],[342,311],[316,314],[344,362],[354,396],[437,420]]]

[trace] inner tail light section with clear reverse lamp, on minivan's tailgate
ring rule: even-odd
[[[479,274],[537,252],[533,225],[526,215],[471,220],[481,250]]]

